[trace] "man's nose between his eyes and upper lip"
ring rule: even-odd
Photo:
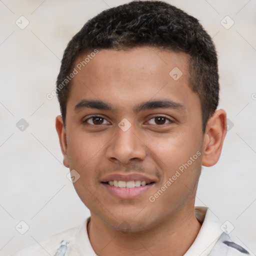
[[[146,146],[134,126],[131,125],[126,131],[117,126],[116,134],[106,150],[107,159],[127,164],[131,159],[143,160],[145,156]]]

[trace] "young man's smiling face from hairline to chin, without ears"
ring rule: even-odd
[[[100,49],[74,76],[62,152],[65,166],[80,175],[74,187],[93,218],[138,231],[193,209],[204,134],[200,100],[188,79],[186,54],[151,47]],[[77,105],[82,100],[112,109]],[[167,100],[168,106],[139,107]],[[122,188],[111,180],[149,184]]]

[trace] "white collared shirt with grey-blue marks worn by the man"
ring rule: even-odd
[[[231,241],[220,225],[214,222],[206,207],[195,206],[195,216],[202,223],[194,242],[184,256],[245,256],[250,255],[240,245]],[[81,226],[70,228],[24,247],[12,256],[96,256],[90,244],[87,224],[90,217]]]

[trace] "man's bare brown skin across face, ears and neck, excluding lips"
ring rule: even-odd
[[[80,56],[76,63],[82,61]],[[75,64],[76,64],[75,63]],[[172,79],[178,67],[182,76]],[[188,86],[188,56],[160,48],[101,49],[73,78],[66,105],[66,127],[60,115],[56,130],[63,163],[80,177],[77,194],[89,208],[87,230],[99,256],[183,255],[201,224],[194,214],[201,165],[214,165],[226,134],[226,113],[218,109],[202,132],[200,99]],[[80,108],[82,99],[111,103],[114,111]],[[183,108],[133,112],[147,100],[169,99]],[[104,119],[83,122],[96,114]],[[155,116],[164,116],[159,122]],[[118,123],[131,126],[123,131]],[[161,119],[162,120],[162,119]],[[89,122],[89,123],[88,123]],[[98,124],[99,123],[99,124]],[[149,201],[169,177],[197,151],[201,155],[157,198]],[[113,173],[140,173],[155,183],[132,199],[111,195],[101,178]]]

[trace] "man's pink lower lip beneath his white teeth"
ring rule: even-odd
[[[144,186],[135,186],[133,188],[124,188],[118,186],[111,186],[106,183],[101,183],[105,189],[111,194],[121,199],[132,199],[141,194],[145,191],[150,189],[154,183],[150,183]]]

